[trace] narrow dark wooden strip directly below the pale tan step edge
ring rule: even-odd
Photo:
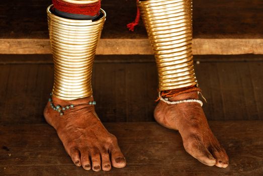
[[[199,62],[260,62],[263,55],[194,55]],[[95,63],[150,63],[153,55],[96,55]],[[0,54],[0,64],[52,64],[51,54]]]

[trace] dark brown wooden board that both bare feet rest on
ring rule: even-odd
[[[225,169],[201,164],[184,150],[178,132],[156,123],[106,123],[118,137],[127,166],[96,173],[73,166],[47,124],[0,127],[0,175],[262,175],[263,122],[211,121],[226,149]],[[227,134],[227,135],[226,135]]]

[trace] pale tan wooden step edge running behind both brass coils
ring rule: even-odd
[[[51,54],[49,39],[0,39],[0,54]],[[193,39],[194,54],[263,54],[263,39]],[[97,54],[152,54],[148,39],[104,39]]]

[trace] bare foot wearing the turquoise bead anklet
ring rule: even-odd
[[[73,101],[60,100],[52,97],[53,104],[67,106],[85,104],[93,98]],[[48,102],[44,116],[53,126],[62,141],[66,152],[76,166],[85,170],[105,171],[111,167],[125,167],[126,160],[118,146],[117,138],[109,133],[98,118],[94,105],[79,105],[64,111],[64,115],[53,110]]]

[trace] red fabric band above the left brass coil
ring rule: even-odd
[[[70,14],[96,16],[101,9],[100,0],[92,4],[71,4],[62,0],[52,0],[52,3],[55,9]]]

